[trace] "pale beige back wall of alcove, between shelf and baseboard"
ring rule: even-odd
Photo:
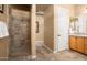
[[[39,21],[39,33],[36,33],[36,41],[44,41],[44,15],[36,14]]]

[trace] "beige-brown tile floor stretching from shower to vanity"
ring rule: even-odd
[[[10,57],[10,61],[87,61],[87,56],[75,51],[62,51],[59,53],[51,53],[45,47],[37,47],[36,58],[31,56]]]

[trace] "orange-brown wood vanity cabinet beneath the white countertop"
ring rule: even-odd
[[[87,55],[87,37],[69,36],[69,48]]]

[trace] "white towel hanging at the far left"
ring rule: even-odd
[[[6,37],[9,35],[8,26],[4,22],[0,21],[0,37]]]

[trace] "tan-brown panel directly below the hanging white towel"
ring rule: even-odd
[[[6,39],[0,39],[0,59],[8,59],[9,44]]]

